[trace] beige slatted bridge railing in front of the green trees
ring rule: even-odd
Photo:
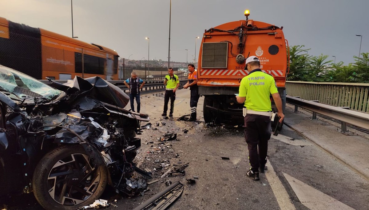
[[[287,81],[289,96],[369,113],[369,84]]]

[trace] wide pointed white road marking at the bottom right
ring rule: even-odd
[[[268,168],[269,169],[269,168]],[[311,187],[298,179],[293,178],[287,173],[283,173],[287,182],[292,187],[296,196],[299,198],[300,202],[311,210],[353,210],[346,204],[339,202],[338,200],[320,192],[319,190]]]

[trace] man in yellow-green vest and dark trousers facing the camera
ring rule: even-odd
[[[165,85],[165,95],[164,95],[164,111],[162,116],[166,116],[166,111],[168,110],[168,102],[170,98],[170,112],[169,117],[173,117],[174,110],[174,100],[176,100],[176,90],[179,87],[178,76],[173,74],[173,69],[168,69],[168,75],[164,78]]]

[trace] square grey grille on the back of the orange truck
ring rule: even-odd
[[[203,43],[201,68],[227,68],[228,42]]]

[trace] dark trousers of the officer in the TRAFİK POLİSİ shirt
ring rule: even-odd
[[[245,139],[249,150],[249,161],[253,172],[259,172],[259,166],[266,163],[268,140],[270,139],[270,117],[259,114],[247,114],[245,121]],[[259,150],[259,151],[258,151]]]

